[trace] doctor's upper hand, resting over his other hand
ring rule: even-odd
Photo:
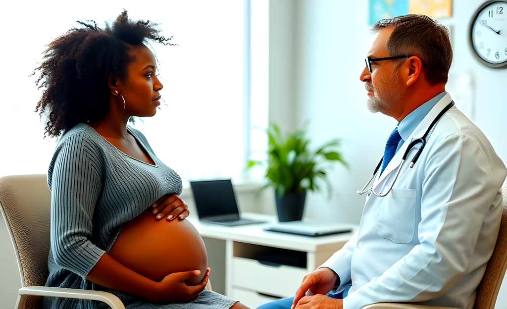
[[[291,309],[296,308],[296,305],[302,298],[305,297],[307,291],[308,295],[325,294],[331,291],[336,285],[337,278],[338,275],[336,272],[328,267],[322,267],[310,274],[307,274],[305,278],[303,278],[303,282],[296,292]],[[333,299],[331,297],[327,298]]]

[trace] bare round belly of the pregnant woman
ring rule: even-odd
[[[207,268],[206,248],[192,223],[177,218],[159,221],[151,208],[123,224],[108,254],[156,282],[169,273],[199,269],[200,276],[185,281],[196,285]]]

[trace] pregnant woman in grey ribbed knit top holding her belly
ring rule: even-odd
[[[127,308],[246,308],[205,289],[206,249],[185,220],[182,181],[127,126],[160,105],[157,61],[143,43],[168,40],[126,11],[105,29],[81,24],[49,44],[39,67],[37,110],[47,115],[46,134],[59,137],[48,171],[46,285],[110,292]],[[161,130],[176,138],[170,126]],[[51,297],[44,306],[106,307]]]

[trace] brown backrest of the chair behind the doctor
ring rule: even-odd
[[[505,269],[507,269],[507,186],[502,188],[503,208],[500,231],[496,239],[493,255],[489,259],[486,272],[477,289],[474,309],[494,309]]]

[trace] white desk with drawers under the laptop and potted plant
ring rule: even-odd
[[[213,255],[215,259],[225,260],[225,294],[250,308],[280,297],[294,296],[303,277],[342,248],[357,230],[356,225],[350,225],[350,233],[300,236],[265,231],[264,227],[276,222],[275,216],[254,213],[244,213],[241,216],[266,223],[228,227],[202,223],[197,218],[189,218],[189,221],[202,237],[225,241],[223,255]],[[210,256],[213,248],[207,250]],[[303,265],[266,265],[256,259],[256,256],[263,253],[298,256]]]

